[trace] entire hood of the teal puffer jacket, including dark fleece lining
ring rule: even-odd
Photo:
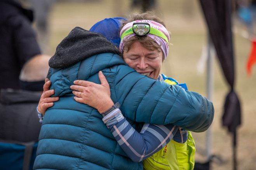
[[[51,68],[47,77],[51,80],[51,89],[55,90],[52,96],[72,92],[70,85],[75,80],[87,80],[105,68],[125,65],[117,54],[119,50],[101,34],[75,27],[49,61]]]

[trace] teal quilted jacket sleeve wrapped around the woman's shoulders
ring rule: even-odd
[[[148,78],[125,66],[117,69],[115,93],[124,116],[136,122],[171,123],[203,132],[214,117],[212,102],[199,93]]]

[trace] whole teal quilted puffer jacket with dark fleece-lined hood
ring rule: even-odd
[[[85,39],[91,43],[86,44]],[[105,53],[87,55],[98,50]],[[110,85],[111,99],[121,104],[122,113],[138,131],[142,122],[172,123],[197,132],[210,126],[214,108],[209,100],[178,85],[143,76],[115,53],[118,51],[103,36],[79,27],[59,44],[49,62],[54,67],[49,78],[51,89],[60,98],[45,113],[34,169],[143,169],[141,162],[132,162],[120,148],[98,110],[73,99],[73,81],[100,83],[100,70]]]

